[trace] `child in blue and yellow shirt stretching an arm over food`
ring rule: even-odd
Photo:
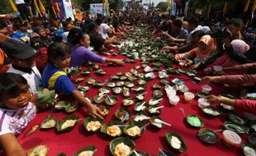
[[[88,107],[92,116],[102,117],[101,110],[89,103],[67,76],[65,68],[69,67],[69,53],[70,50],[64,43],[50,44],[47,53],[48,63],[42,77],[43,88],[55,89],[63,94],[72,94],[78,103]]]

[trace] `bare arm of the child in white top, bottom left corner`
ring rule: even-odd
[[[24,149],[12,133],[0,136],[0,144],[7,156],[26,156]]]

